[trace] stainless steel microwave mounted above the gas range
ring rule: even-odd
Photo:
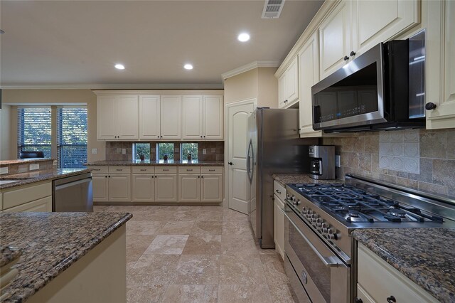
[[[311,87],[313,128],[424,127],[424,57],[423,33],[419,39],[380,43],[355,58]]]

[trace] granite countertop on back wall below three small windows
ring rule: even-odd
[[[85,163],[87,166],[161,166],[161,165],[169,165],[169,166],[224,166],[224,161],[173,161],[173,160],[159,160],[159,161],[150,161],[150,160],[134,160],[134,161],[115,161],[115,160],[105,160],[105,161],[95,161]]]

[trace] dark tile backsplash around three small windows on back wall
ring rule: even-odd
[[[151,161],[156,161],[156,144],[159,142],[140,142],[150,143]],[[166,142],[168,143],[168,142]],[[186,142],[170,142],[174,144],[173,159],[180,159],[180,144]],[[106,160],[132,161],[133,159],[133,142],[106,142]],[[125,149],[125,154],[122,153]],[[205,154],[203,150],[205,149]],[[198,142],[198,159],[201,161],[223,161],[225,154],[225,142],[223,141],[202,141]]]

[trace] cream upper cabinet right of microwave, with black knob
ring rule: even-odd
[[[428,1],[427,129],[455,127],[454,16],[455,1]]]

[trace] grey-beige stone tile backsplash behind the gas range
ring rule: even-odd
[[[323,138],[341,155],[338,179],[347,173],[455,196],[455,130],[405,129]]]

